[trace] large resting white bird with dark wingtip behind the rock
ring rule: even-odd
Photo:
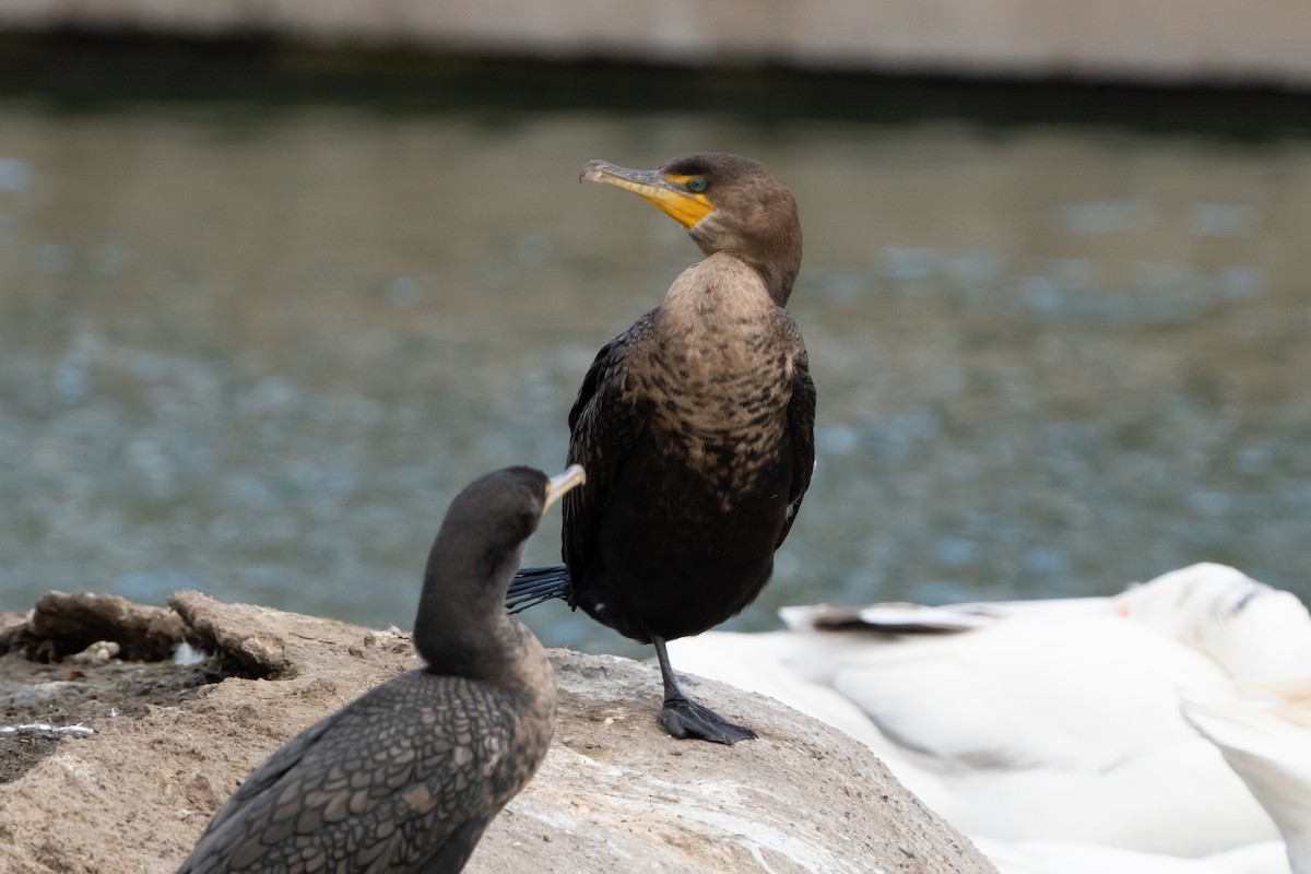
[[[1203,563],[1109,598],[780,615],[676,659],[864,740],[964,832],[1176,857],[1278,839],[1179,693],[1311,676],[1290,592]]]

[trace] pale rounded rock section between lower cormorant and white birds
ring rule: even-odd
[[[560,717],[545,763],[492,823],[469,871],[991,871],[869,750],[762,696],[688,677],[760,738],[659,727],[659,671],[553,650]]]

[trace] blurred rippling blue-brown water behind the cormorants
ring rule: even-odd
[[[199,588],[408,628],[450,498],[558,469],[597,347],[696,256],[578,169],[692,148],[764,160],[806,233],[818,469],[733,628],[1200,560],[1311,598],[1304,138],[10,100],[0,609]]]

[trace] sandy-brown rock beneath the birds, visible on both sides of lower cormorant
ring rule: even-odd
[[[194,592],[169,603],[189,638],[278,679],[228,677],[178,706],[101,718],[92,739],[60,740],[0,786],[0,870],[173,870],[270,752],[420,663],[400,633]],[[551,752],[492,823],[471,873],[994,870],[863,744],[834,729],[690,677],[699,700],[760,738],[734,747],[674,740],[656,722],[653,666],[565,650],[552,660],[560,717]]]

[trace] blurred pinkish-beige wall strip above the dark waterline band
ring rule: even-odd
[[[3,0],[60,25],[548,58],[1311,85],[1308,0]]]

